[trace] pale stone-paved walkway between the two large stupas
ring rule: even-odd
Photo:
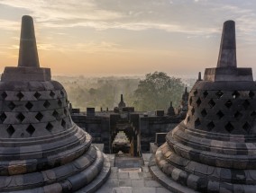
[[[105,184],[96,193],[169,193],[159,182],[153,180],[148,168],[151,154],[142,154],[142,171],[114,167],[114,154],[108,155],[111,162],[111,174]],[[120,164],[120,162],[119,162]],[[125,165],[125,161],[123,161]],[[136,165],[136,164],[135,164]]]

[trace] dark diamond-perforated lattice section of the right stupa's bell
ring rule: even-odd
[[[189,94],[187,127],[225,134],[255,133],[256,90],[193,89]]]

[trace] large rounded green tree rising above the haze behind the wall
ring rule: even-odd
[[[169,101],[178,106],[185,85],[180,78],[169,77],[163,72],[145,75],[134,92],[136,110],[167,110]]]

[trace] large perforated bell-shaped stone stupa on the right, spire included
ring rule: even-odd
[[[169,189],[256,192],[256,85],[251,68],[236,66],[235,49],[234,22],[224,22],[217,67],[195,83],[186,119],[151,166]]]

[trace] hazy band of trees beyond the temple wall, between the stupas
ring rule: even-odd
[[[163,72],[147,74],[143,78],[59,76],[55,79],[65,87],[73,108],[81,111],[87,107],[113,110],[118,106],[121,93],[126,106],[133,106],[135,110],[167,110],[169,101],[178,107],[185,89],[180,78],[170,77]]]

